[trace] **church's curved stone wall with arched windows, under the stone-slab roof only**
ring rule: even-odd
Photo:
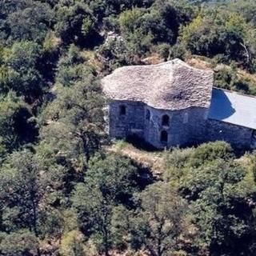
[[[121,107],[126,114],[121,114]],[[147,116],[149,114],[149,116]],[[162,116],[168,115],[169,126],[162,126]],[[109,107],[109,133],[114,138],[136,134],[157,148],[185,146],[203,141],[206,132],[207,110],[194,107],[186,110],[157,110],[142,102],[114,101]],[[161,142],[166,130],[167,142]]]

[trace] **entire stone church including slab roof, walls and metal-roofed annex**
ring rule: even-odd
[[[256,148],[256,98],[214,88],[214,73],[179,59],[124,66],[102,79],[112,138],[162,149],[224,140]]]

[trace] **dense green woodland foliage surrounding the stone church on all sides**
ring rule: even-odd
[[[100,79],[196,59],[256,94],[256,2],[0,1],[0,254],[254,256],[256,154],[110,153]]]

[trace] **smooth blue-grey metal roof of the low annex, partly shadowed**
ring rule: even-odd
[[[256,130],[256,98],[214,88],[208,118]]]

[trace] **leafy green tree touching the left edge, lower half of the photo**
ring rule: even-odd
[[[28,228],[38,235],[39,202],[45,187],[34,155],[27,150],[11,154],[0,176],[4,229]]]

